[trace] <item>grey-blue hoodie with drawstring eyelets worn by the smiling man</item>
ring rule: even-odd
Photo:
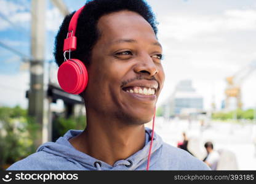
[[[113,166],[76,150],[68,141],[82,131],[70,130],[56,142],[42,144],[36,153],[12,164],[7,170],[146,170],[151,129],[146,128],[145,147]],[[210,170],[187,151],[172,147],[154,133],[150,170]]]

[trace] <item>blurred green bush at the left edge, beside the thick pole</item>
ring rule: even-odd
[[[38,125],[19,106],[0,107],[0,166],[25,158],[36,150]]]

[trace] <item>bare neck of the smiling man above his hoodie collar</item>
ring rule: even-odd
[[[76,150],[113,166],[144,147],[145,127],[87,115],[86,129],[69,141]]]

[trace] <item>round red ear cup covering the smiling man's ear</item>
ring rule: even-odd
[[[64,61],[58,68],[58,83],[67,93],[82,93],[88,83],[88,73],[84,63],[79,59]]]

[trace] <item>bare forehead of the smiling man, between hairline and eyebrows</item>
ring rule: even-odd
[[[98,21],[98,29],[101,44],[111,46],[144,42],[162,48],[150,23],[136,12],[122,10],[103,15]]]

